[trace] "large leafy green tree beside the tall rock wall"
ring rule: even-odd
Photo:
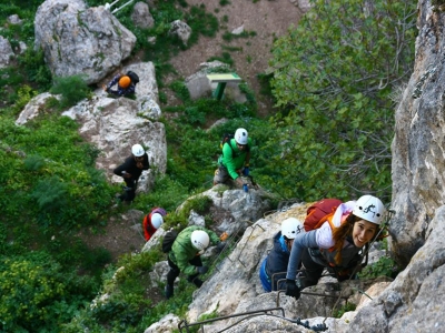
[[[393,90],[413,68],[413,1],[316,0],[274,46],[270,182],[306,200],[390,195]],[[289,186],[289,184],[291,186]]]

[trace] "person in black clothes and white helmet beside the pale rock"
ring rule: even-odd
[[[135,144],[131,147],[131,157],[127,158],[122,164],[113,170],[113,173],[123,178],[126,188],[118,199],[125,203],[130,203],[136,195],[138,180],[144,170],[148,170],[148,155],[142,145]]]

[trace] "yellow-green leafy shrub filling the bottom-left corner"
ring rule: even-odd
[[[62,271],[43,252],[0,256],[1,331],[57,332],[92,296],[91,282]]]

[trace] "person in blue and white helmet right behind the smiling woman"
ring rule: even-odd
[[[290,249],[297,234],[304,232],[303,222],[296,218],[288,218],[281,222],[281,231],[274,236],[274,248],[259,269],[259,280],[266,292],[286,287],[285,279]],[[278,281],[280,281],[279,285]]]

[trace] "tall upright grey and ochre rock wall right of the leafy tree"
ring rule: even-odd
[[[405,264],[425,243],[434,212],[445,203],[442,16],[429,1],[421,2],[415,68],[395,115],[392,250]]]

